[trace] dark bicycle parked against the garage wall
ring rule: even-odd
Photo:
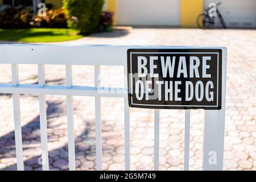
[[[218,19],[220,20],[222,27],[226,28],[226,23],[220,13],[220,11],[217,8],[220,5],[221,5],[221,2],[218,2],[216,4],[216,13],[217,13]],[[204,13],[197,16],[196,22],[197,22],[197,26],[199,28],[205,29],[205,28],[210,28],[210,27],[214,26],[216,16],[212,16],[212,17],[209,16],[209,10],[210,10],[210,7],[208,9],[205,9]]]

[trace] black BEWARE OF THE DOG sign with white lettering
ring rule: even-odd
[[[221,49],[129,49],[129,106],[221,109]]]

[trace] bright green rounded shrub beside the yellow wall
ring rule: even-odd
[[[104,0],[64,0],[68,15],[68,26],[80,30],[81,34],[98,31]]]

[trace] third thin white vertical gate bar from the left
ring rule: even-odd
[[[72,65],[66,65],[66,85],[72,88]],[[73,117],[73,96],[67,96],[67,117],[68,117],[68,162],[69,171],[76,170],[75,156],[75,133],[74,133],[74,117]]]

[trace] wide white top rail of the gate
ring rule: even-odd
[[[68,64],[126,66],[127,49],[136,48],[204,49],[205,47],[0,44],[0,64]],[[207,48],[209,49],[216,47]],[[61,56],[61,59],[59,59],[59,56]]]

